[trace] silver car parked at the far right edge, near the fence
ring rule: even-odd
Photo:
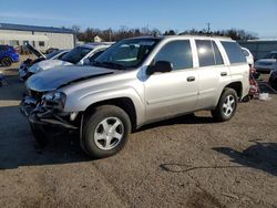
[[[255,69],[260,73],[270,73],[277,62],[277,51],[266,54],[263,59],[255,62]]]

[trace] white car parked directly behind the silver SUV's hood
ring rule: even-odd
[[[112,43],[88,43],[76,46],[59,60],[45,60],[32,65],[28,70],[29,76],[41,71],[53,69],[55,66],[88,64],[109,46],[111,46],[111,44]]]

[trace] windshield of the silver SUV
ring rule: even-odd
[[[120,41],[99,55],[92,65],[120,70],[137,67],[158,41],[158,39],[129,39]]]

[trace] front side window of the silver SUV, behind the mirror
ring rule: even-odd
[[[173,70],[193,67],[193,56],[189,41],[172,41],[167,43],[156,54],[154,61],[168,61],[172,63]]]

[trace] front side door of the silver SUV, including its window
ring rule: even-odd
[[[193,67],[189,40],[175,40],[154,56],[168,61],[173,71],[154,73],[145,81],[146,117],[148,121],[194,111],[197,100],[197,71]]]

